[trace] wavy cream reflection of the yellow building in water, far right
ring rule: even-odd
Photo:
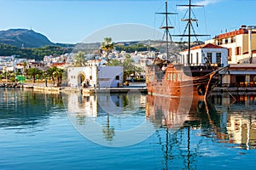
[[[220,116],[222,134],[218,139],[224,142],[239,144],[243,149],[256,148],[256,96],[221,94],[214,96],[212,101],[221,105]]]

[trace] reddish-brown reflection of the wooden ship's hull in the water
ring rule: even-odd
[[[206,110],[209,109],[209,106],[212,105],[206,105],[204,100],[197,98],[168,98],[148,95],[146,116],[158,127],[177,130],[186,122],[200,122],[201,116],[207,116]]]

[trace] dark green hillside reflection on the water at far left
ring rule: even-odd
[[[44,124],[53,108],[62,107],[60,94],[42,94],[32,89],[0,88],[0,127],[32,128]]]

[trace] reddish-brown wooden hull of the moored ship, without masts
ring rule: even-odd
[[[209,69],[201,76],[193,76],[195,71],[188,71],[182,65],[168,65],[166,71],[160,71],[160,68],[154,65],[148,68],[148,94],[171,98],[206,99],[212,88],[221,80],[220,71],[223,74],[224,68],[215,71]]]

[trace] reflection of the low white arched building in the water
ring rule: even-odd
[[[123,114],[145,107],[145,96],[140,94],[67,95],[67,109],[77,116],[97,117],[107,114]],[[128,109],[129,108],[129,109]]]

